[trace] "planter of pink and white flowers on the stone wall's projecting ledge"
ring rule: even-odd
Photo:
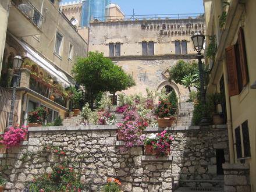
[[[173,140],[173,136],[166,130],[162,133],[151,133],[144,139],[145,155],[157,155],[157,157],[170,155],[170,145]]]

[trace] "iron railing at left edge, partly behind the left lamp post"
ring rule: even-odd
[[[18,106],[20,97],[16,95],[14,105],[14,116],[13,125],[17,125],[19,119]],[[6,90],[0,87],[0,133],[3,133],[8,125],[9,113],[10,113],[10,102],[12,100],[12,91]]]

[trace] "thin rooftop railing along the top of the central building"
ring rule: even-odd
[[[162,20],[162,19],[200,19],[204,18],[204,13],[181,13],[181,14],[158,14],[158,15],[126,15],[126,16],[104,16],[94,17],[93,20],[99,22],[112,20]]]

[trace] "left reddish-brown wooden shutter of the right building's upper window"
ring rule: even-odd
[[[239,94],[236,55],[234,45],[226,48],[227,76],[229,77],[229,97]]]

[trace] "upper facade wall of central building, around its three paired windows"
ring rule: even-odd
[[[163,27],[164,24],[165,27]],[[187,54],[195,54],[191,41],[191,35],[195,31],[204,33],[204,19],[91,23],[89,51],[99,51],[109,56],[108,44],[120,42],[121,56],[136,56],[142,55],[142,41],[154,41],[154,55],[175,54],[175,41],[185,40],[187,41]]]

